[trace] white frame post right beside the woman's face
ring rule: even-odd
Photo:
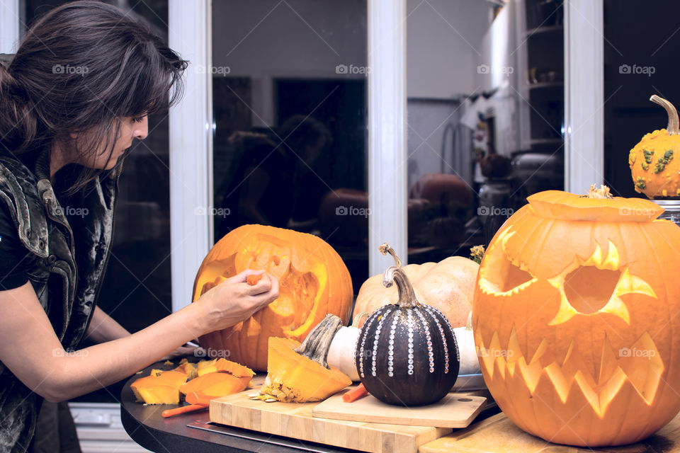
[[[170,109],[172,309],[191,303],[193,280],[212,245],[212,2],[169,0],[168,39],[190,64]]]

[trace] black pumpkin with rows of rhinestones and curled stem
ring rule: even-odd
[[[453,329],[441,311],[420,304],[404,271],[391,266],[382,284],[397,283],[399,301],[382,306],[359,333],[354,360],[368,393],[397,406],[423,406],[446,396],[458,378]]]

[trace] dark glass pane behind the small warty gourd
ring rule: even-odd
[[[668,122],[650,96],[680,103],[677,8],[672,0],[604,1],[604,176],[619,196],[645,197],[635,192],[628,151]]]

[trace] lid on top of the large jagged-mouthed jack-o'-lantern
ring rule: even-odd
[[[655,202],[642,198],[591,197],[562,190],[545,190],[527,200],[537,214],[562,220],[651,222],[664,212]]]

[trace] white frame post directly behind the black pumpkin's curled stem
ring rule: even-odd
[[[392,264],[383,242],[408,259],[406,18],[406,0],[368,0],[367,278]]]

